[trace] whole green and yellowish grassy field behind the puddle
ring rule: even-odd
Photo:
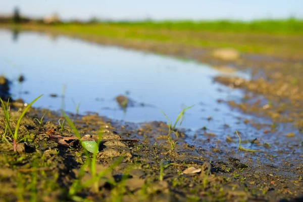
[[[242,53],[303,58],[303,20],[295,19],[24,24],[21,28],[53,31],[147,51],[150,49],[146,44],[185,49],[233,47]]]

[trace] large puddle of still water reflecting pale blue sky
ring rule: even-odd
[[[215,83],[215,76],[249,79],[248,73],[220,71],[222,68],[195,62],[35,32],[12,36],[10,31],[0,30],[0,40],[6,47],[0,50],[0,74],[13,82],[11,93],[15,99],[30,102],[44,94],[34,107],[64,108],[75,113],[80,104],[80,114],[97,112],[112,119],[142,123],[166,122],[160,109],[174,122],[183,108],[194,105],[186,111],[182,127],[191,135],[216,134],[210,137],[213,146],[217,140],[225,141],[227,135],[237,142],[236,130],[245,134],[244,139],[262,139],[263,130],[245,124],[245,119],[271,124],[218,102],[241,100],[243,93]],[[20,75],[24,76],[21,83]],[[116,102],[119,95],[131,100],[126,111]]]

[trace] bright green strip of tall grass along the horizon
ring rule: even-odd
[[[103,23],[105,24],[105,23]],[[125,27],[144,27],[148,29],[170,29],[191,31],[257,32],[278,34],[303,34],[303,20],[256,20],[243,21],[141,21],[109,22],[111,25]]]

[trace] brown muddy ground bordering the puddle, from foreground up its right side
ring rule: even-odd
[[[221,70],[249,71],[249,80],[215,78],[214,82],[245,92],[240,100],[217,101],[266,120],[260,124],[256,119],[239,118],[239,122],[262,132],[248,139],[239,131],[242,140],[242,149],[239,149],[235,131],[218,137],[207,128],[201,128],[195,136],[188,136],[187,131],[182,130],[178,138],[172,132],[169,141],[168,126],[163,122],[121,123],[96,114],[69,114],[81,136],[95,137],[100,127],[104,131],[96,157],[96,171],[103,175],[94,186],[87,182],[92,172],[83,166],[92,154],[88,158],[79,141],[70,137],[74,132],[66,122],[63,127],[59,126],[59,119],[64,120],[60,113],[30,109],[22,119],[18,132],[21,141],[18,152],[14,152],[12,136],[5,133],[4,112],[0,110],[0,134],[8,140],[3,139],[0,144],[0,187],[5,187],[0,190],[0,200],[303,199],[303,59],[241,54],[226,61],[215,58],[212,50],[156,43],[143,46],[139,42],[119,45],[196,60]],[[2,94],[6,99],[7,94]],[[20,102],[11,102],[13,129],[24,108]],[[44,114],[39,123],[37,119]],[[175,147],[174,142],[177,142]],[[185,174],[190,167],[195,168],[190,171],[194,173]],[[84,169],[82,178],[81,168]]]

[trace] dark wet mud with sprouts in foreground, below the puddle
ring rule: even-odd
[[[22,104],[11,103],[13,128],[22,109]],[[97,181],[96,191],[91,184],[84,186],[92,173],[87,167],[81,171],[87,156],[72,128],[59,125],[58,120],[64,117],[49,110],[30,109],[22,119],[14,152],[10,135],[5,133],[3,110],[0,113],[0,132],[8,140],[0,144],[0,183],[6,187],[1,189],[2,201],[68,201],[76,196],[93,201],[302,199],[302,153],[296,151],[302,145],[298,142],[283,146],[283,150],[271,150],[272,145],[247,140],[240,134],[243,147],[256,144],[262,151],[239,149],[236,135],[213,147],[208,143],[212,135],[207,137],[206,133],[191,137],[180,130],[168,136],[168,126],[163,122],[121,124],[97,114],[70,114],[82,140],[96,138],[100,127],[103,130],[95,169],[97,173],[107,172]],[[71,194],[75,181],[83,187]]]

